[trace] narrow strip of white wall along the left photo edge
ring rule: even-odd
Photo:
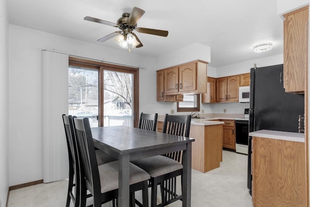
[[[9,24],[5,0],[0,0],[0,206],[9,189]]]

